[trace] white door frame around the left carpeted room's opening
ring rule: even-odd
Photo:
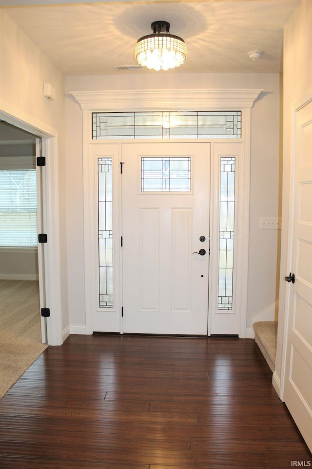
[[[42,155],[46,157],[46,166],[42,171],[42,214],[44,230],[48,234],[48,243],[44,245],[44,276],[39,272],[39,285],[45,289],[45,303],[40,294],[40,307],[49,307],[51,316],[46,320],[48,345],[63,343],[61,295],[60,295],[60,260],[59,260],[59,189],[58,189],[58,136],[57,131],[43,122],[20,112],[0,101],[0,119],[26,130],[42,140]]]

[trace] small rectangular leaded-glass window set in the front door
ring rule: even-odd
[[[141,191],[190,192],[191,158],[141,158]]]

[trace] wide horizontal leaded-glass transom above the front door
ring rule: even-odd
[[[94,112],[92,139],[240,139],[241,111]]]

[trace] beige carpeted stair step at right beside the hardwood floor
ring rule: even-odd
[[[260,348],[269,367],[272,371],[274,371],[276,356],[277,322],[259,321],[257,323],[254,323],[253,327],[254,340]]]

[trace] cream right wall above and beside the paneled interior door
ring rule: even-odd
[[[312,89],[312,2],[302,0],[284,28],[284,142],[283,142],[283,204],[281,276],[275,374],[281,378],[284,307],[287,265],[288,210],[291,158],[291,108]]]

